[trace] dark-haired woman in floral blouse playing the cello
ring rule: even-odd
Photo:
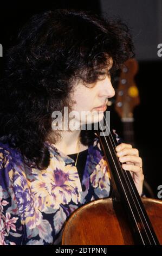
[[[124,23],[88,12],[44,11],[21,29],[1,81],[2,245],[56,245],[76,208],[111,196],[99,139],[87,127],[103,119],[111,75],[133,55]],[[71,126],[62,129],[55,113]],[[141,195],[138,150],[121,143],[116,154]]]

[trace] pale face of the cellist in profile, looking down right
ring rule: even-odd
[[[94,87],[88,88],[81,83],[77,84],[75,87],[72,96],[72,99],[75,101],[73,110],[79,113],[79,118],[75,117],[75,119],[77,122],[80,122],[80,124],[97,123],[103,119],[103,112],[106,110],[108,98],[115,95],[109,74],[111,67],[112,62],[108,68],[102,69],[102,72],[106,73],[106,75],[101,75],[101,78],[105,77],[105,79],[97,81]],[[101,105],[105,105],[105,108],[96,108]]]

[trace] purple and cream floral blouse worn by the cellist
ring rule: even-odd
[[[64,222],[75,209],[110,195],[99,138],[88,147],[82,182],[74,160],[44,143],[50,164],[38,170],[23,162],[20,151],[0,142],[0,245],[58,245]]]

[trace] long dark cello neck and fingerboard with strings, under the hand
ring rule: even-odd
[[[105,113],[103,120],[99,122],[97,131],[105,159],[111,170],[111,179],[115,190],[120,195],[125,214],[128,217],[136,241],[141,245],[159,245],[159,241],[147,216],[144,205],[135,187],[131,173],[122,169],[116,156],[115,147],[118,145],[114,133],[109,129]]]

